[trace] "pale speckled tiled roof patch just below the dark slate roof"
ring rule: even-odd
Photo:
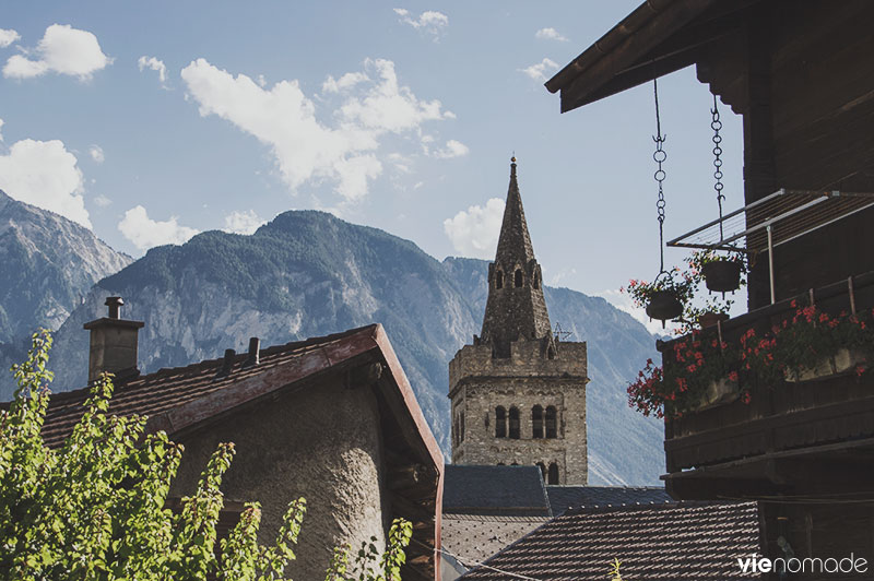
[[[470,569],[548,520],[548,517],[444,513],[441,546]]]

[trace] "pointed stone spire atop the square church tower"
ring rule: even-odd
[[[495,261],[488,266],[488,300],[482,331],[482,341],[492,344],[496,357],[509,357],[513,341],[552,337],[540,264],[534,258],[516,178],[516,157],[510,162],[504,222]]]

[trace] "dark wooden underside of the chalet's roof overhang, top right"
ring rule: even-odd
[[[697,62],[758,0],[647,0],[550,79],[562,112]]]

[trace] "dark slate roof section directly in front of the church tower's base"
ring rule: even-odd
[[[538,466],[447,464],[444,513],[551,517]]]

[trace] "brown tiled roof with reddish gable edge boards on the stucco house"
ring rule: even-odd
[[[165,430],[173,436],[243,406],[267,401],[277,391],[318,386],[318,378],[327,374],[343,374],[345,378],[346,370],[381,364],[381,378],[374,389],[378,392],[383,418],[381,427],[391,430],[385,437],[397,442],[395,446],[403,442],[409,453],[402,458],[410,462],[415,459],[434,478],[433,487],[428,481],[423,482],[429,486],[427,494],[423,491],[423,496],[410,501],[425,514],[417,518],[427,526],[413,532],[413,541],[425,546],[424,556],[410,559],[402,570],[434,578],[435,569],[439,570],[439,559],[428,547],[434,547],[435,538],[440,537],[439,489],[444,458],[382,325],[370,324],[269,347],[261,349],[259,357],[258,365],[246,366],[247,354],[236,355],[228,372],[224,372],[225,360],[220,358],[122,380],[109,402],[109,413],[145,415],[147,431]],[[87,389],[51,395],[43,427],[47,444],[63,442],[82,417],[82,404],[87,396]],[[399,498],[402,497],[399,495]],[[392,514],[401,515],[404,510],[399,505],[398,512]]]

